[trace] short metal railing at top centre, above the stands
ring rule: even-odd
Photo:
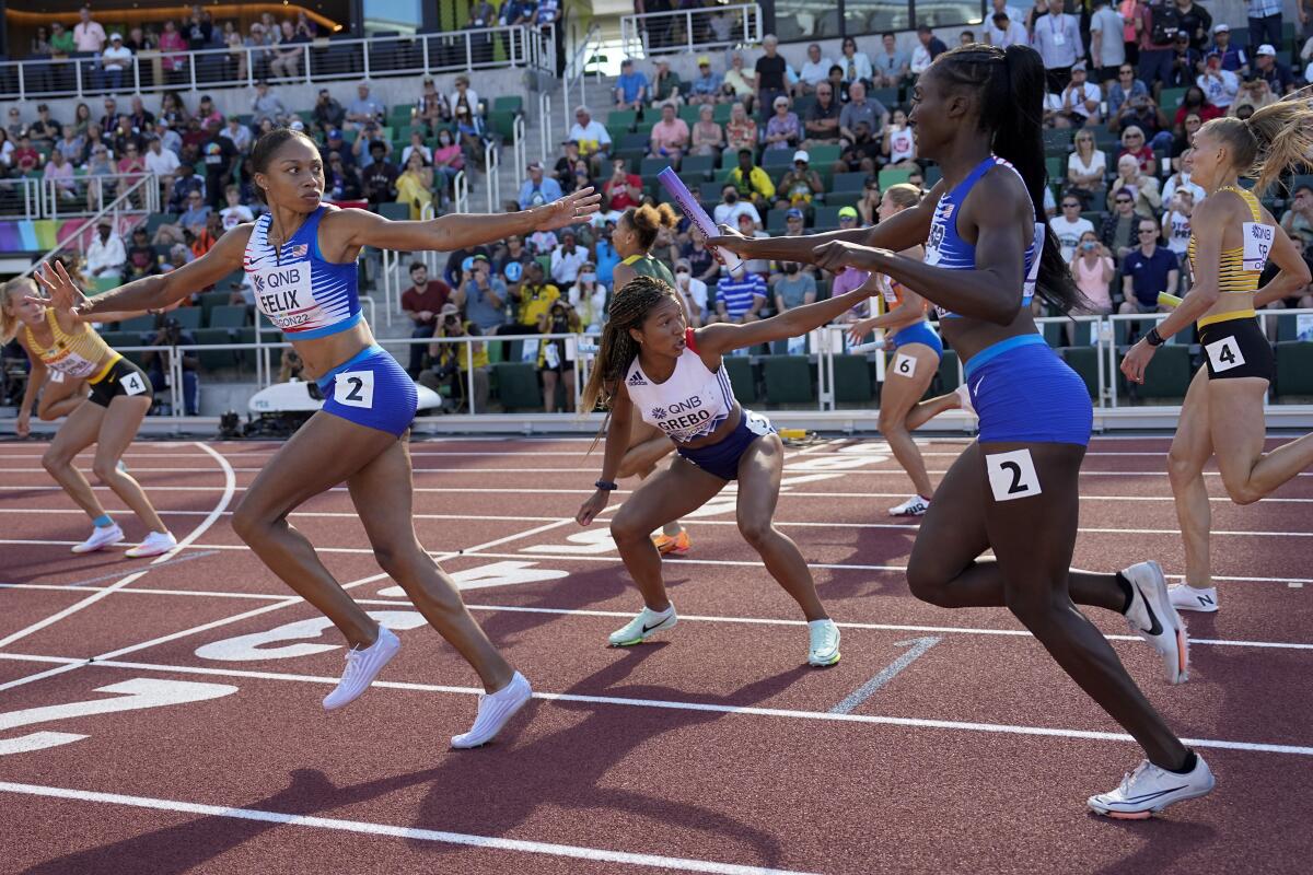
[[[762,37],[762,7],[755,3],[649,12],[620,20],[620,46],[626,58],[756,45]]]

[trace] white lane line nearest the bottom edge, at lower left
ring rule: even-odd
[[[662,857],[659,854],[638,854],[632,851],[604,850],[600,847],[583,847],[579,845],[558,845],[554,842],[536,842],[521,838],[496,838],[494,836],[471,836],[469,833],[453,833],[441,829],[421,829],[419,826],[394,826],[391,824],[376,824],[364,820],[341,820],[339,817],[316,817],[314,815],[289,815],[280,811],[261,811],[259,808],[206,805],[194,802],[180,802],[176,799],[127,796],[117,792],[96,792],[91,790],[46,787],[41,784],[12,783],[8,781],[0,782],[0,792],[20,794],[26,796],[45,796],[49,799],[64,799],[70,802],[93,802],[110,805],[126,805],[130,808],[151,808],[154,811],[167,811],[171,813],[184,813],[184,815],[200,815],[204,817],[253,820],[265,824],[276,824],[280,826],[330,829],[345,833],[358,833],[364,836],[404,838],[407,841],[437,842],[442,845],[463,845],[467,847],[516,851],[521,854],[545,854],[549,857],[566,857],[572,859],[587,859],[591,862],[600,862],[600,863],[617,863],[622,866],[650,866],[667,870],[678,870],[681,872],[712,872],[713,875],[804,875],[802,872],[794,872],[783,868],[739,866],[737,863],[717,863],[713,861],[688,859],[683,857]]]

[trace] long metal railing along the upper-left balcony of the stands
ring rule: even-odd
[[[368,39],[320,38],[282,49],[144,51],[118,72],[106,70],[100,56],[75,54],[0,63],[0,100],[253,88],[260,79],[322,83],[499,68],[553,73],[554,63],[551,29],[525,25],[407,37],[376,34]]]

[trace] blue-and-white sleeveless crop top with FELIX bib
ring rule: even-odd
[[[319,222],[327,211],[320,206],[306,216],[278,251],[269,244],[273,215],[265,213],[247,241],[243,266],[255,304],[289,340],[327,337],[362,319],[356,262],[334,264],[319,252]]]

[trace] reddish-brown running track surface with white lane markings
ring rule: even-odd
[[[934,442],[928,467],[943,471],[962,446]],[[801,617],[739,538],[733,496],[688,521],[693,551],[667,563],[679,628],[603,647],[637,597],[599,540],[604,526],[580,534],[569,519],[599,464],[586,447],[414,446],[421,540],[446,551],[444,567],[540,694],[495,744],[453,752],[475,677],[431,630],[399,630],[404,648],[374,689],[326,714],[335,632],[232,640],[316,614],[239,544],[227,516],[154,567],[121,547],[74,556],[87,519],[41,470],[43,447],[0,443],[0,641],[28,631],[0,644],[0,871],[1309,871],[1313,476],[1250,508],[1215,501],[1224,609],[1187,615],[1190,683],[1167,686],[1119,618],[1092,614],[1218,777],[1212,796],[1127,824],[1087,815],[1083,800],[1134,766],[1136,745],[1007,613],[909,596],[915,525],[884,513],[909,487],[878,443],[827,442],[788,462],[777,518],[844,624],[843,661],[823,672],[805,666]],[[226,472],[197,443],[127,455],[180,537],[231,512],[272,451],[213,449],[232,467],[227,504]],[[1161,438],[1094,442],[1078,564],[1157,558],[1179,573],[1165,450]],[[344,491],[294,522],[369,610],[414,619]],[[831,714],[899,657],[906,668],[850,716]],[[125,686],[102,690],[113,685]],[[134,695],[165,702],[89,704]]]

